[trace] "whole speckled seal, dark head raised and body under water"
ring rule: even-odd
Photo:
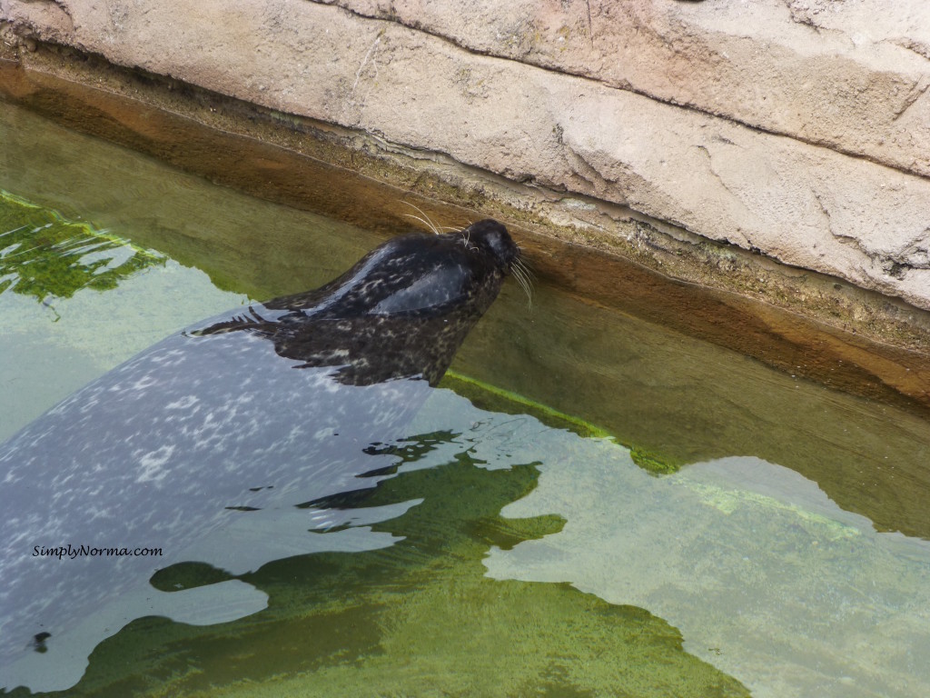
[[[168,337],[0,446],[0,687],[70,688],[140,616],[212,624],[267,604],[236,579],[149,584],[177,562],[234,576],[391,544],[307,503],[387,477],[372,445],[410,436],[519,261],[497,221],[394,238],[320,289]]]

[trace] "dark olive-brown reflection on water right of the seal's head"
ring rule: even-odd
[[[756,456],[817,482],[878,530],[930,539],[930,421],[919,413],[844,395],[557,289],[537,289],[532,316],[509,300],[492,308],[454,368],[582,415],[670,469]]]

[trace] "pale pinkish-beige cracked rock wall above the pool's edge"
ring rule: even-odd
[[[0,0],[0,12],[26,48],[75,47],[499,175],[522,185],[517,206],[601,239],[646,221],[930,310],[925,0]]]

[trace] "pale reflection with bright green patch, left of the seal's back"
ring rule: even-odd
[[[2,190],[0,231],[0,442],[153,342],[246,300]]]

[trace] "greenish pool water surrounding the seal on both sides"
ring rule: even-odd
[[[380,239],[6,105],[0,141],[0,233],[58,235],[31,258],[58,268],[32,286],[12,257],[27,246],[0,242],[0,437],[171,331],[317,286]],[[435,391],[395,448],[360,456],[379,477],[301,510],[325,521],[244,517],[238,547],[152,580],[237,580],[266,608],[136,618],[61,694],[930,693],[920,411],[544,284],[532,311],[510,285],[455,368],[532,401]]]

